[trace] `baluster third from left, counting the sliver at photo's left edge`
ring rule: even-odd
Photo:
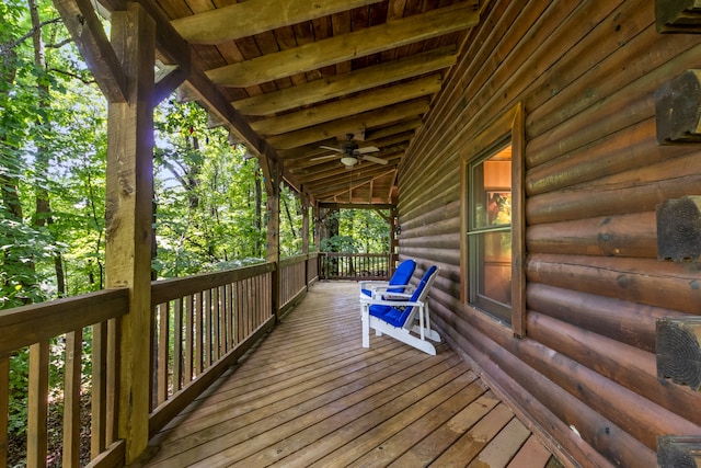
[[[64,467],[80,466],[80,383],[83,331],[66,334],[64,386]]]

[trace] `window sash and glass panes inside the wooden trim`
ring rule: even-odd
[[[469,303],[512,322],[510,138],[468,164]]]

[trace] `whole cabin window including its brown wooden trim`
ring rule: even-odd
[[[518,104],[462,156],[463,301],[525,334],[524,112]]]

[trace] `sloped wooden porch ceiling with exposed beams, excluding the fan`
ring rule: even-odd
[[[211,81],[235,110],[219,103],[215,125],[281,161],[285,179],[313,199],[372,204],[393,201],[397,169],[480,9],[479,0],[139,2],[170,24],[159,31],[159,59],[191,60],[206,77],[197,82],[186,71],[189,88],[199,87],[195,99]],[[179,44],[191,58],[174,52]],[[211,95],[203,101],[212,107]],[[346,168],[342,155],[322,148],[348,135],[386,163]]]

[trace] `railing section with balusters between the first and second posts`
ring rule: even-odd
[[[274,263],[151,285],[154,434],[275,322]]]

